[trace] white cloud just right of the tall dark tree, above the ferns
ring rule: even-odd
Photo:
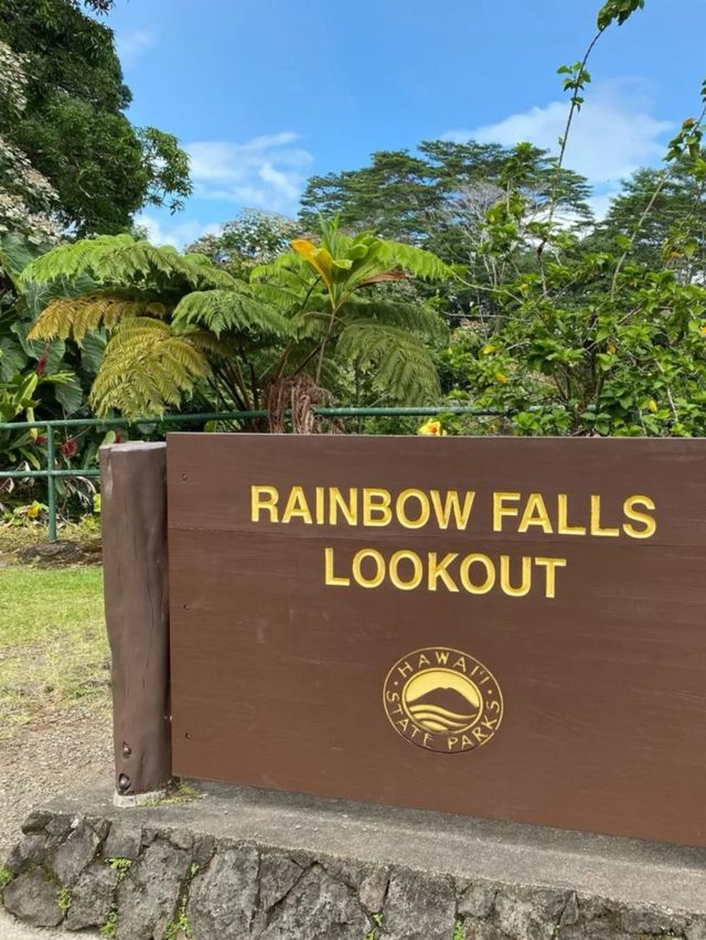
[[[313,157],[292,131],[255,137],[245,143],[203,140],[188,143],[194,195],[270,212],[293,212]]]

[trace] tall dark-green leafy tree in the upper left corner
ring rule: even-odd
[[[188,157],[172,135],[126,117],[111,30],[76,0],[3,0],[0,43],[23,75],[22,107],[0,108],[0,185],[12,173],[2,154],[23,154],[56,193],[58,222],[78,234],[125,229],[145,204],[180,206]]]

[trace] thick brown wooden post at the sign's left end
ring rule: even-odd
[[[131,805],[171,778],[167,446],[103,447],[100,470],[116,803]]]

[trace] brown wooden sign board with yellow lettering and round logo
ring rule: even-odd
[[[172,435],[174,772],[706,845],[706,442]]]

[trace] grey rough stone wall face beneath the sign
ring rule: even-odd
[[[706,940],[706,916],[35,812],[0,885],[39,927],[116,940]]]

